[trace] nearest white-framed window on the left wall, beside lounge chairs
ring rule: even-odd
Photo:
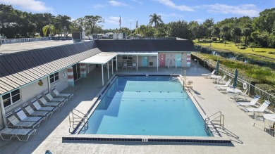
[[[13,105],[14,103],[17,103],[18,101],[21,100],[20,90],[17,89],[15,91],[12,91],[11,93],[3,95],[2,98],[3,98],[4,108],[10,105]]]

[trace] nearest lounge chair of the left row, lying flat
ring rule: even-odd
[[[3,140],[10,141],[13,136],[17,137],[19,141],[27,141],[30,135],[35,134],[36,129],[14,129],[4,128],[0,130],[0,136]],[[4,136],[10,136],[9,139],[5,139]],[[27,136],[27,139],[21,139],[19,136]]]

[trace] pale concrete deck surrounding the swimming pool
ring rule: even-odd
[[[47,121],[42,122],[37,128],[37,133],[30,136],[28,141],[18,141],[16,138],[11,141],[0,139],[0,153],[45,153],[46,150],[50,150],[51,153],[274,153],[275,137],[264,131],[264,122],[255,121],[251,114],[245,114],[227,94],[222,94],[214,88],[212,79],[201,76],[202,73],[209,73],[209,70],[197,67],[194,63],[191,68],[182,69],[187,70],[188,80],[193,81],[193,93],[205,113],[211,115],[221,111],[225,116],[225,129],[219,131],[222,136],[231,139],[231,144],[62,142],[63,136],[70,135],[68,113],[73,108],[82,112],[87,111],[92,99],[102,89],[101,69],[96,68],[86,78],[75,82],[75,86],[62,91],[73,93],[73,98],[48,117]],[[157,72],[157,68],[138,68],[138,71],[119,68],[118,72],[114,73],[170,75],[174,70],[175,68],[159,68]],[[106,72],[104,76],[106,82]]]

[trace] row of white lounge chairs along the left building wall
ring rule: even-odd
[[[68,102],[73,97],[73,94],[59,94],[56,89],[52,89],[54,96],[51,96],[49,91],[44,91],[45,98],[40,94],[30,102],[34,108],[31,108],[28,103],[23,104],[23,108],[16,108],[13,113],[6,114],[8,125],[4,129],[0,129],[0,136],[3,140],[11,140],[16,136],[20,141],[27,141],[30,135],[35,134],[35,127],[39,127],[40,122],[47,120],[49,115],[52,115],[55,110],[59,109],[64,103]],[[25,112],[24,112],[25,110]],[[8,136],[8,138],[4,138]],[[20,136],[27,136],[27,139],[21,139]]]

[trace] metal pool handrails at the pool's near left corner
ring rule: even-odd
[[[79,110],[76,110],[75,108],[73,108],[73,110],[71,110],[71,112],[69,113],[69,123],[70,133],[78,133],[80,130],[86,131],[89,128],[87,114],[81,113]]]

